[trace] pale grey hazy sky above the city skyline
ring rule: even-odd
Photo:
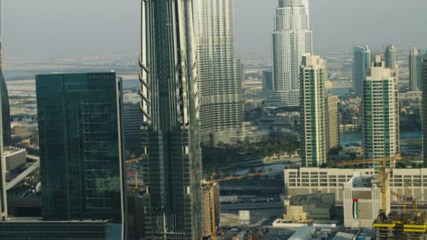
[[[5,57],[138,55],[140,0],[4,0]],[[277,0],[235,0],[236,47],[268,55]],[[310,0],[316,51],[427,45],[426,0]],[[407,51],[406,49],[400,49]]]

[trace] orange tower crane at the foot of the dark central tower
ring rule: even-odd
[[[231,176],[227,178],[218,178],[215,179],[215,176],[218,175],[217,173],[212,173],[211,180],[202,180],[202,186],[208,186],[209,190],[211,191],[211,218],[212,218],[212,233],[211,233],[211,239],[216,239],[216,206],[215,206],[215,199],[216,199],[216,192],[213,189],[213,186],[218,182],[224,182],[228,180],[237,180],[237,179],[243,179],[243,178],[251,178],[255,176],[261,176],[265,175],[268,172],[261,172],[261,173],[248,173],[245,175],[238,175],[238,176]]]

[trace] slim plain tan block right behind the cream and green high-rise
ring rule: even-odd
[[[338,96],[329,95],[326,97],[327,115],[327,151],[339,147],[339,121],[338,121]]]

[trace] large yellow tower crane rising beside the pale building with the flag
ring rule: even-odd
[[[381,213],[387,213],[387,184],[388,184],[388,173],[387,173],[387,162],[390,161],[390,168],[395,166],[396,161],[402,160],[400,154],[395,156],[383,157],[382,159],[364,159],[355,161],[343,161],[336,164],[336,166],[352,166],[362,164],[377,164],[381,163],[381,173],[379,174],[381,182]]]

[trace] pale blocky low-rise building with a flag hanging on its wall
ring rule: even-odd
[[[381,210],[381,187],[371,176],[354,173],[343,185],[344,225],[346,227],[372,227]],[[386,209],[390,213],[390,191],[386,192]]]

